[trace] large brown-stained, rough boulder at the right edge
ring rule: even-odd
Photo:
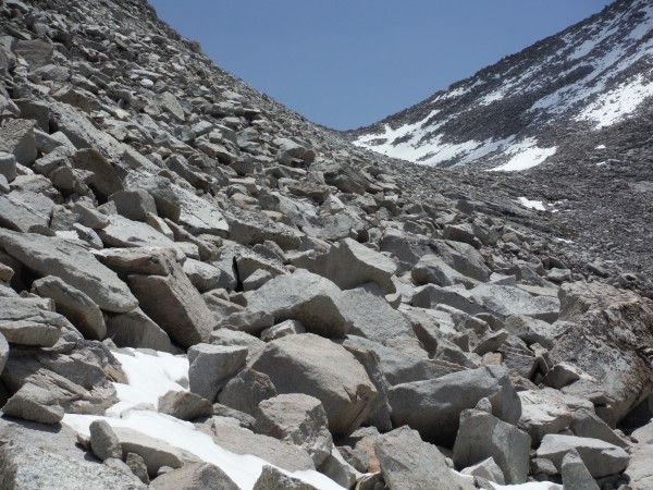
[[[588,377],[563,388],[586,399],[601,396],[599,415],[616,425],[653,392],[653,370],[639,354],[653,345],[653,307],[633,292],[599,283],[560,287],[560,320],[572,327],[551,350],[553,363],[574,359]]]

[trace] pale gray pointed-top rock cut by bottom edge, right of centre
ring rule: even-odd
[[[435,481],[439,490],[475,488],[457,479],[438,448],[423,442],[408,427],[382,436],[374,449],[390,490],[422,490],[432,488]]]

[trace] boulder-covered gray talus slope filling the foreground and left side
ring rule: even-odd
[[[187,352],[159,412],[345,488],[653,486],[653,304],[498,177],[350,147],[140,0],[0,15],[2,488],[237,488],[60,425],[118,401],[122,347]]]

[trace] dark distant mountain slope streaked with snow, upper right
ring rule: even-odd
[[[619,0],[349,136],[424,164],[521,170],[576,144],[579,130],[637,117],[651,96],[653,5]]]

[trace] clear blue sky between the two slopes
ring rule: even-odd
[[[338,130],[371,124],[609,0],[149,0],[249,85]]]

